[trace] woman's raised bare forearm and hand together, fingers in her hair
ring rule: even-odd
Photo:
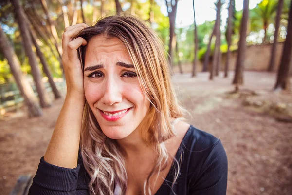
[[[77,49],[86,45],[81,37],[73,39],[86,24],[67,27],[63,34],[63,66],[67,83],[67,96],[55,125],[44,160],[50,164],[75,168],[77,166],[82,115],[85,104],[83,71]]]

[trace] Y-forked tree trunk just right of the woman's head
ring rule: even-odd
[[[167,13],[169,18],[169,44],[168,44],[168,62],[169,66],[172,67],[172,49],[174,46],[174,30],[175,30],[175,19],[178,8],[178,0],[165,0]]]

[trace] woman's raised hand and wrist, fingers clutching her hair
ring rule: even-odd
[[[78,59],[77,49],[81,45],[87,45],[87,41],[81,37],[73,39],[80,30],[88,27],[86,24],[76,24],[65,28],[62,39],[63,56],[62,63],[64,66],[67,97],[83,98],[83,71],[80,60]]]

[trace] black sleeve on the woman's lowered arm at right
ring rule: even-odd
[[[226,195],[228,162],[219,140],[205,159],[189,195]]]

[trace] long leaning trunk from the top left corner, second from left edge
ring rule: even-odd
[[[24,45],[24,50],[28,57],[29,64],[31,66],[32,75],[36,83],[40,106],[43,108],[49,107],[51,106],[51,103],[50,103],[48,94],[46,92],[44,83],[41,80],[41,74],[38,68],[37,59],[32,49],[32,40],[29,34],[29,29],[27,28],[27,24],[25,22],[26,17],[24,15],[24,11],[22,7],[20,6],[19,0],[11,0],[11,2],[15,9],[14,10],[15,18],[18,21],[19,30],[20,30],[23,45]]]

